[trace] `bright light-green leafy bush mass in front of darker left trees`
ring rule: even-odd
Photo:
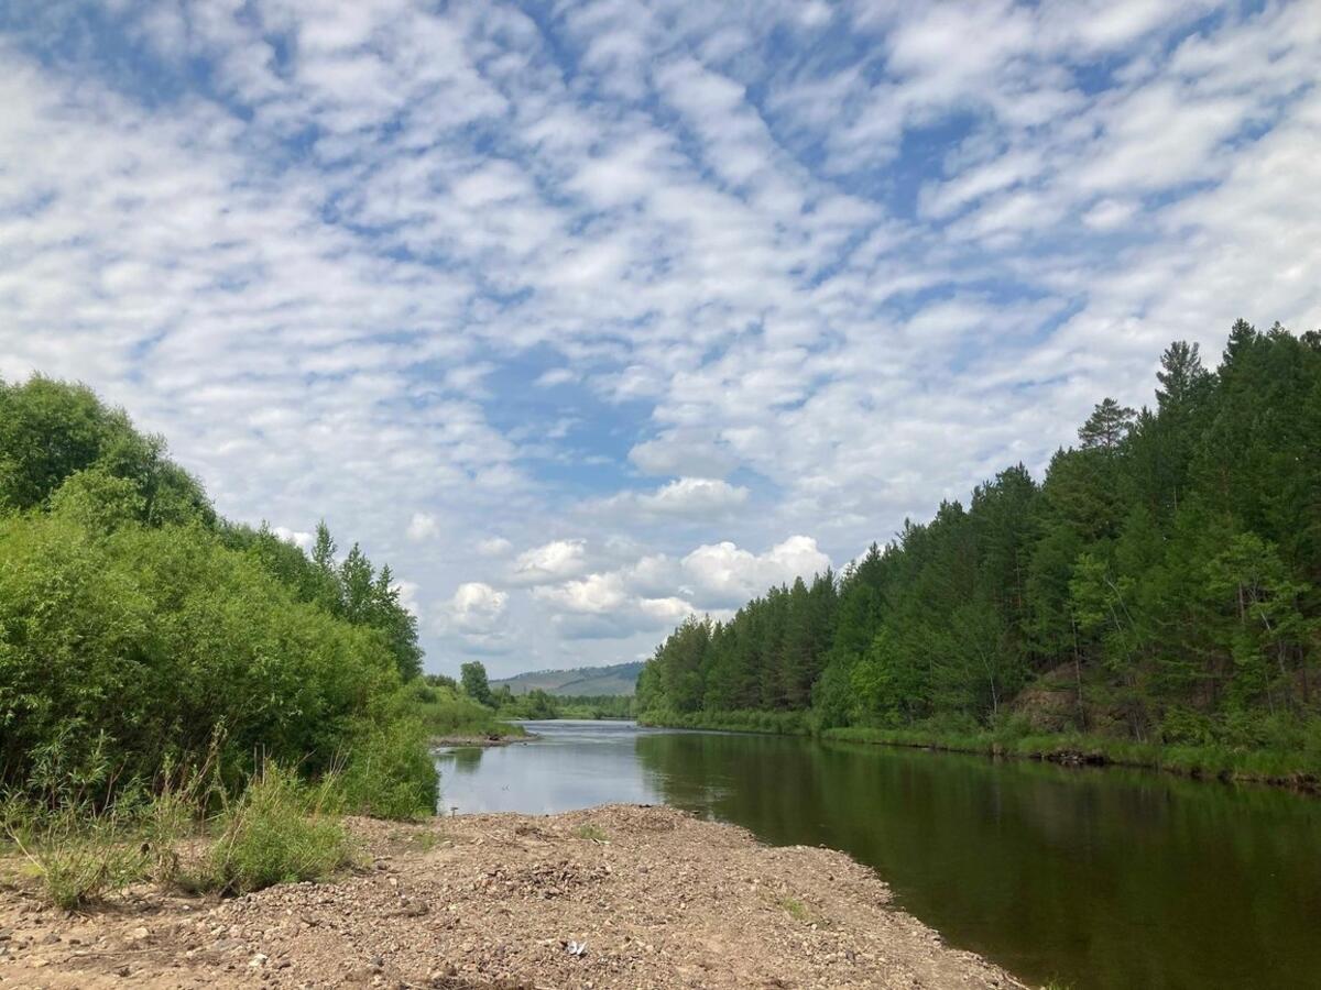
[[[399,692],[378,631],[199,527],[0,517],[0,784],[26,787],[57,742],[70,772],[103,744],[115,781],[152,780],[222,730],[231,784],[254,752],[318,774]]]

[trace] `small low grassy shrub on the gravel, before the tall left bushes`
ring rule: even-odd
[[[324,880],[353,862],[349,833],[334,813],[337,781],[309,787],[267,763],[219,818],[206,873],[189,886],[230,894],[276,883]]]

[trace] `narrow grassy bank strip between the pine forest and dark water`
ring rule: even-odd
[[[725,718],[724,715],[736,715]],[[1235,750],[1225,746],[1174,746],[1139,743],[1081,733],[1046,733],[1001,737],[995,733],[956,735],[919,729],[838,727],[814,731],[801,713],[769,713],[766,727],[750,725],[738,713],[716,713],[709,719],[638,718],[638,725],[663,729],[694,729],[750,735],[794,735],[823,742],[892,746],[931,752],[963,752],[993,759],[1021,759],[1071,767],[1127,767],[1149,770],[1192,780],[1226,784],[1259,784],[1305,795],[1321,795],[1321,775],[1301,767],[1295,754],[1276,750]],[[775,715],[791,714],[791,718]],[[1256,764],[1256,766],[1254,766]]]

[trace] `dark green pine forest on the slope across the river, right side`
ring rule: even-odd
[[[639,709],[1321,758],[1321,334],[1239,321],[1218,370],[1174,343],[1157,381],[1155,408],[1096,405],[1040,483],[1009,467],[841,574],[686,622]]]

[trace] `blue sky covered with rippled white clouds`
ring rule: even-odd
[[[0,3],[0,376],[641,659],[1321,326],[1321,3]]]

